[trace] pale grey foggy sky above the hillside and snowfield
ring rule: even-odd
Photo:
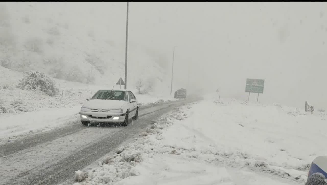
[[[42,3],[47,9],[54,4]],[[62,3],[66,9],[52,9],[55,18],[65,11],[71,17],[60,19],[86,28],[110,25],[97,31],[125,49],[126,2]],[[164,54],[168,78],[176,46],[176,88],[219,88],[221,97],[247,100],[246,78],[258,78],[265,79],[260,102],[303,108],[308,101],[324,108],[325,7],[325,2],[129,2],[129,44]]]

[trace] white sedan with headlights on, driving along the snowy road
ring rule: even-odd
[[[127,126],[130,118],[138,118],[139,103],[129,90],[98,90],[86,100],[79,112],[83,125],[112,122]]]

